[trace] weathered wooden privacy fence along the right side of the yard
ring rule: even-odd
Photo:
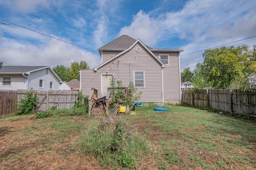
[[[256,90],[200,89],[197,92],[182,91],[182,102],[210,107],[220,111],[256,117]]]

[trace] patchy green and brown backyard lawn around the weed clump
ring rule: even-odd
[[[154,111],[154,107],[159,106],[136,107],[136,114],[116,117],[128,123],[132,128],[130,132],[139,141],[144,141],[147,147],[143,145],[144,149],[138,150],[138,145],[129,143],[127,146],[135,149],[126,148],[121,157],[116,157],[116,166],[103,164],[108,167],[106,169],[256,169],[255,121],[192,107],[164,106],[169,108],[168,111]],[[92,139],[96,139],[92,135],[99,123],[94,116],[44,119],[35,119],[35,115],[1,117],[0,170],[100,170],[99,160],[110,163],[113,160],[104,160],[104,154],[97,160],[97,154],[84,150]],[[84,135],[88,132],[89,141],[86,142]],[[111,138],[101,137],[101,140],[102,143],[110,140],[113,144]],[[82,148],[81,141],[84,141]],[[118,141],[122,143],[122,140]],[[99,148],[104,144],[95,144],[94,149],[102,153],[103,148]],[[119,144],[117,146],[122,146]],[[111,152],[108,154],[110,158],[116,156]]]

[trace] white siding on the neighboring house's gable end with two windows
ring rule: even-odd
[[[39,80],[43,80],[43,88],[39,87]],[[53,88],[50,89],[50,82],[53,82]],[[54,74],[48,70],[46,74],[46,69],[38,70],[28,74],[28,90],[60,90],[60,82],[54,76]]]

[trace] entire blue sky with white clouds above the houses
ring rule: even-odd
[[[204,51],[195,51],[255,36],[256,1],[0,0],[0,22],[4,66],[86,61],[94,68],[101,64],[98,48],[129,35],[155,49],[184,49],[182,71],[202,62]],[[256,37],[226,46],[242,44],[252,49]]]

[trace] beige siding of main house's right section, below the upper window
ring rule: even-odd
[[[180,74],[178,53],[155,52],[156,57],[160,54],[169,55],[169,65],[163,69],[164,77],[164,101],[180,101]]]

